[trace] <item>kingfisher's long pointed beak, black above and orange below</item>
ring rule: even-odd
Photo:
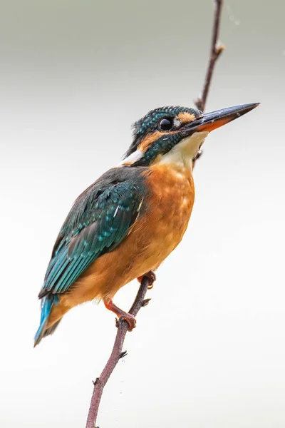
[[[186,133],[213,131],[219,126],[234,121],[234,119],[248,113],[257,106],[259,106],[259,103],[242,104],[241,106],[221,108],[221,110],[212,111],[211,113],[202,113],[195,121],[188,123],[184,130]]]

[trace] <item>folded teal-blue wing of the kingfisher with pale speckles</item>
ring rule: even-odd
[[[145,168],[113,168],[83,192],[53,248],[39,297],[63,293],[128,235],[142,205]]]

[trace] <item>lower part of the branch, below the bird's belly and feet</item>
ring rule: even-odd
[[[130,308],[129,313],[136,316],[138,311],[142,306],[146,306],[150,299],[145,300],[145,294],[147,292],[147,288],[150,285],[150,279],[146,276],[142,278],[142,282],[140,284],[140,288],[138,290],[138,294],[135,297],[135,301],[133,302],[133,306]],[[125,357],[126,352],[122,352],[123,344],[125,340],[125,335],[128,331],[128,322],[125,320],[120,320],[117,324],[118,331],[115,337],[115,343],[113,346],[113,350],[109,357],[107,364],[105,365],[103,372],[100,374],[94,383],[93,394],[90,402],[90,409],[88,413],[86,428],[95,428],[98,409],[100,405],[100,399],[103,393],[103,389],[105,384],[108,382],[110,375],[112,374],[115,366],[118,364],[120,358]]]

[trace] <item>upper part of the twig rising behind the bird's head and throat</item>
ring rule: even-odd
[[[222,14],[222,3],[223,0],[213,0],[214,2],[214,24],[213,24],[213,30],[212,30],[212,41],[211,41],[211,50],[209,54],[209,63],[208,68],[206,71],[206,76],[204,80],[204,86],[202,90],[202,95],[195,100],[195,106],[199,108],[199,110],[204,111],[204,108],[206,106],[206,101],[209,93],[209,86],[212,81],[212,75],[214,71],[214,65],[219,58],[220,54],[222,54],[222,51],[224,51],[225,46],[223,44],[219,44],[219,24],[221,21],[221,14]],[[193,159],[192,168],[195,166],[195,162],[197,159],[199,159],[202,156],[202,150],[200,150],[197,153],[197,156],[195,159]]]

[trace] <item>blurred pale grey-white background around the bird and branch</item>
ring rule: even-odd
[[[130,124],[193,106],[212,1],[9,1],[0,16],[0,425],[84,427],[114,316],[76,307],[33,350],[38,290],[78,193]],[[260,101],[212,133],[182,244],[157,272],[103,395],[98,425],[284,427],[285,6],[224,1],[207,111]],[[115,302],[128,309],[133,282]]]

